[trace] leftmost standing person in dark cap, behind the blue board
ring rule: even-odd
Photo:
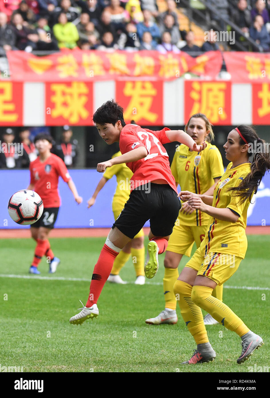
[[[20,167],[19,151],[18,149],[16,151],[16,147],[12,145],[14,138],[14,131],[10,128],[6,129],[1,141],[0,168],[13,169],[15,167]]]

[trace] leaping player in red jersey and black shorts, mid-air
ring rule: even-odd
[[[113,261],[149,219],[150,242],[147,246],[145,276],[155,276],[158,254],[166,250],[181,207],[168,154],[162,144],[178,141],[197,152],[205,148],[205,143],[198,146],[182,130],[171,131],[165,127],[160,131],[151,131],[138,125],[126,125],[123,108],[113,100],[98,108],[93,121],[100,137],[109,145],[119,142],[122,153],[121,156],[99,163],[97,171],[102,173],[113,164],[126,163],[134,174],[130,180],[129,200],[115,220],[94,267],[86,306],[80,308],[82,311],[79,314],[70,318],[72,324],[82,324],[86,319],[98,316],[96,303],[110,275]]]

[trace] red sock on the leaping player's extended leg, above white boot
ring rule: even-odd
[[[114,250],[110,249],[106,244],[104,244],[100,252],[98,262],[94,267],[92,281],[90,284],[90,293],[87,303],[85,304],[87,308],[90,308],[93,304],[97,303],[103,286],[112,271],[113,261],[118,254],[118,252],[115,252]]]

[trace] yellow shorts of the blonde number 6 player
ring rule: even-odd
[[[197,248],[200,247],[201,242],[204,239],[206,228],[207,225],[182,225],[178,218],[174,224],[174,228],[168,242],[167,251],[185,254],[190,257],[194,242],[196,243]]]

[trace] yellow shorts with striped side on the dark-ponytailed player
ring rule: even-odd
[[[223,253],[209,253],[205,257],[199,248],[185,267],[195,269],[198,271],[197,275],[206,276],[220,286],[235,273],[242,260],[240,257]]]

